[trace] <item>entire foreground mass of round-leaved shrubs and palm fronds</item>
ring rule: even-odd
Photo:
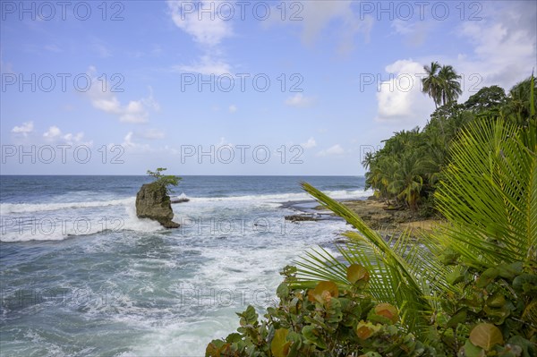
[[[529,83],[527,116],[516,115],[524,120],[482,117],[454,133],[434,193],[447,223],[418,242],[408,234],[386,242],[303,183],[355,230],[337,255],[318,248],[286,267],[278,305],[261,321],[248,307],[237,333],[212,341],[206,355],[537,355],[537,116]]]

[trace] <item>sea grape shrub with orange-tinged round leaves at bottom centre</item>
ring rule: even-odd
[[[237,314],[238,333],[212,341],[207,356],[435,355],[434,348],[400,331],[394,306],[371,301],[364,292],[369,274],[361,266],[346,268],[345,285],[321,281],[310,290],[294,287],[296,268],[288,266],[282,274],[279,305],[267,309],[266,320],[260,322],[249,306]]]

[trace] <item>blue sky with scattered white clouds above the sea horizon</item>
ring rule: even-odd
[[[0,174],[362,175],[365,152],[537,67],[533,1],[0,1]]]

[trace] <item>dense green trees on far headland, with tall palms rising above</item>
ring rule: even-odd
[[[498,86],[485,87],[463,104],[457,104],[459,76],[451,66],[432,63],[425,67],[429,76],[422,80],[423,91],[435,101],[437,109],[421,131],[395,132],[384,142],[384,148],[367,153],[362,165],[366,189],[388,205],[410,208],[423,216],[433,212],[434,191],[442,170],[449,160],[449,148],[458,132],[477,118],[502,117],[507,122],[527,128],[530,118],[530,79],[509,91]],[[534,84],[533,84],[534,88]]]

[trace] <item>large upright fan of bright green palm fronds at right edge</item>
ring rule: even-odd
[[[452,225],[438,241],[473,266],[535,261],[537,158],[522,132],[503,121],[477,121],[451,149],[436,192]]]

